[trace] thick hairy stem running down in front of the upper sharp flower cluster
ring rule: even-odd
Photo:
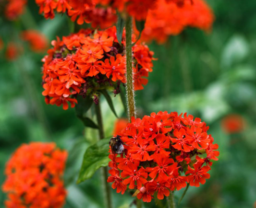
[[[133,81],[133,52],[132,52],[133,20],[128,16],[125,23],[126,33],[126,99],[128,105],[128,118],[135,117],[134,81]]]

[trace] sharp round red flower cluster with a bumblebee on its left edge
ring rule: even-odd
[[[125,192],[127,185],[137,189],[137,197],[150,202],[169,196],[187,184],[199,186],[210,177],[212,162],[218,160],[218,144],[207,134],[200,118],[176,112],[152,113],[132,122],[119,134],[124,153],[118,157],[110,150],[112,188]]]

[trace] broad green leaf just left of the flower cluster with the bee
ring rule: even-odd
[[[108,166],[110,162],[109,141],[110,138],[102,139],[87,148],[77,180],[78,184],[91,178],[100,167]]]

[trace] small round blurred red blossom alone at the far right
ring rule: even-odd
[[[242,132],[245,128],[244,117],[239,114],[230,114],[221,120],[221,127],[228,134]]]

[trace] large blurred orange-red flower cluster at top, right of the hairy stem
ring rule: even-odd
[[[183,7],[173,1],[158,0],[157,9],[148,12],[142,40],[164,43],[169,35],[180,34],[185,27],[210,31],[214,15],[204,0],[184,1]]]

